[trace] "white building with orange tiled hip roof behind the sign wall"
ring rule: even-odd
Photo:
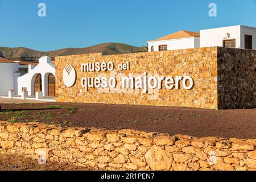
[[[181,30],[162,38],[148,41],[148,52],[200,47],[200,34]]]

